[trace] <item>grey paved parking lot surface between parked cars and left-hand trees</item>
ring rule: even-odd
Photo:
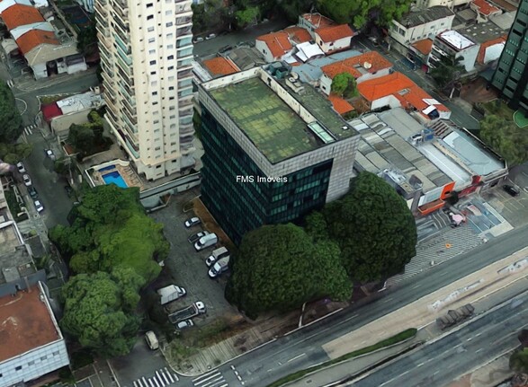
[[[189,203],[192,198],[199,194],[198,189],[192,189],[183,194],[171,198],[168,207],[163,208],[151,216],[159,223],[165,225],[164,233],[166,239],[171,244],[169,257],[166,259],[166,274],[172,278],[172,283],[177,286],[183,286],[187,290],[187,295],[175,301],[176,306],[190,305],[196,301],[205,303],[207,313],[205,318],[197,317],[194,322],[197,326],[207,324],[219,318],[232,321],[237,319],[238,313],[224,298],[226,287],[226,277],[210,279],[205,259],[213,251],[213,247],[204,251],[195,251],[194,247],[187,239],[193,234],[202,230],[201,224],[193,226],[190,229],[184,227],[185,220],[194,214],[192,211],[183,213],[183,207]],[[163,283],[156,286],[170,285],[167,283],[167,277],[162,277]]]

